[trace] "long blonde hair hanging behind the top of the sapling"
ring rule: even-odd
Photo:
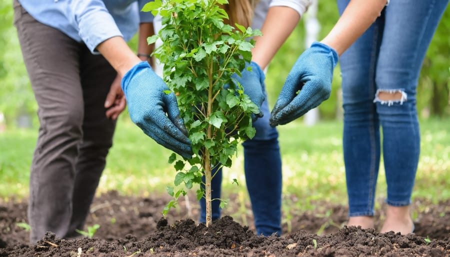
[[[248,27],[253,19],[253,11],[258,0],[228,0],[223,9],[228,13],[228,23],[234,26],[234,23]]]

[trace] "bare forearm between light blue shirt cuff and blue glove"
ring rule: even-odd
[[[96,48],[121,77],[141,61],[121,36],[108,38]]]

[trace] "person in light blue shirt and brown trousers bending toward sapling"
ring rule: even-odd
[[[144,3],[139,1],[140,6]],[[140,58],[125,42],[136,33],[139,23],[151,27],[152,16],[144,12],[139,16],[138,2],[130,0],[14,0],[13,7],[14,25],[38,104],[39,133],[29,181],[30,241],[37,241],[46,231],[62,238],[76,237],[75,229],[83,230],[112,145],[115,119],[125,107],[120,80],[126,78],[126,97],[133,102],[129,111],[139,118],[135,113],[141,106],[136,106],[139,101],[133,100],[137,96],[130,90],[146,87],[148,78],[157,77],[146,61],[151,51],[146,37],[150,34],[141,35],[139,42],[145,43],[139,50],[145,52]],[[154,88],[165,85],[152,81]],[[152,94],[173,106],[174,95]],[[165,117],[155,123],[169,123],[158,103],[151,105],[154,108],[149,111],[160,114],[152,116]],[[188,154],[187,137],[179,130],[172,131],[185,142],[184,146],[175,142],[183,149],[181,154]]]

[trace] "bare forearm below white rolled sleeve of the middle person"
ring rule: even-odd
[[[299,20],[298,12],[290,7],[270,7],[261,28],[262,36],[254,38],[255,47],[251,50],[252,60],[264,69]]]

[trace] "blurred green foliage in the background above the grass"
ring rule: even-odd
[[[320,22],[319,39],[331,29],[338,18],[335,0],[319,0],[317,18]],[[16,30],[12,24],[12,0],[0,0],[0,123],[17,126],[21,117],[32,118],[37,124],[37,104],[31,91],[23,64]],[[417,109],[420,118],[450,117],[450,7],[447,7],[420,73],[417,87]],[[298,55],[304,50],[304,24],[299,22],[270,63],[266,75],[269,105],[273,106],[284,80]],[[136,38],[129,45],[135,48]],[[319,106],[321,119],[341,118],[340,68],[336,66],[330,98]],[[1,121],[1,115],[5,120]],[[127,118],[127,115],[122,115]],[[23,123],[23,122],[22,122]],[[26,121],[25,121],[26,123]]]

